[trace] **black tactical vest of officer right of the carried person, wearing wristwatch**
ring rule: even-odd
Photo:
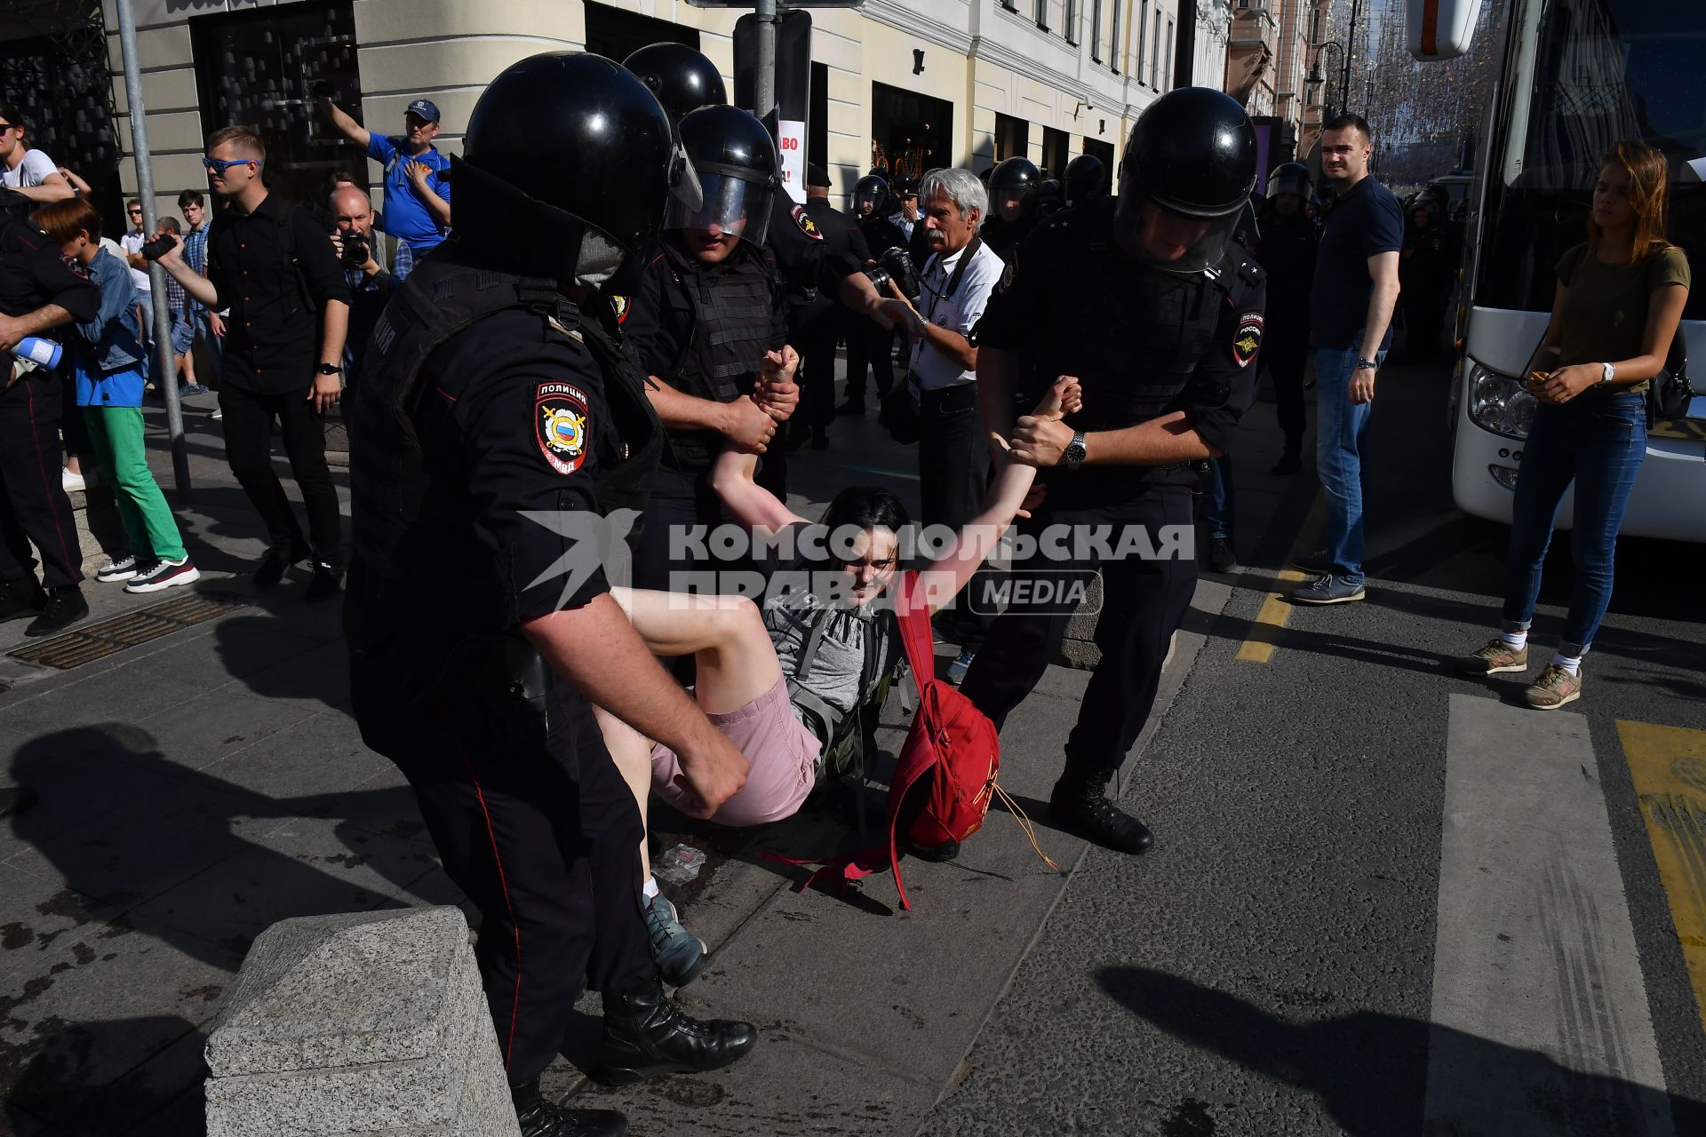
[[[1242,247],[1228,244],[1215,269],[1175,276],[1114,245],[1112,201],[1075,211],[1068,225],[1076,288],[1054,305],[1041,363],[1078,377],[1083,411],[1075,421],[1083,430],[1123,430],[1169,413],[1215,346]]]

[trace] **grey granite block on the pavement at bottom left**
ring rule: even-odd
[[[206,1064],[208,1137],[520,1137],[452,907],[273,924],[225,996]]]

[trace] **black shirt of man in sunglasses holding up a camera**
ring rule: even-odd
[[[321,312],[350,303],[326,228],[270,193],[252,213],[225,206],[208,237],[208,281],[225,320],[223,382],[281,394],[314,384]]]

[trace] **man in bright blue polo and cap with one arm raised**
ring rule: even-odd
[[[329,99],[326,106],[333,126],[367,147],[367,157],[386,167],[382,232],[397,239],[392,276],[403,280],[415,268],[415,257],[450,230],[450,182],[440,177],[450,169],[450,159],[432,145],[438,136],[438,107],[430,99],[416,99],[403,113],[403,135],[387,138],[368,131]]]

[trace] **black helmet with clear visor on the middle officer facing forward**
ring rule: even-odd
[[[769,211],[781,186],[776,141],[764,124],[739,107],[710,106],[676,126],[703,189],[698,208],[670,199],[664,228],[730,234],[764,244]]]

